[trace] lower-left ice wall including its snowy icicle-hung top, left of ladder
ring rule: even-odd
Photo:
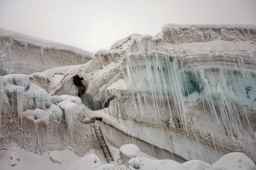
[[[2,76],[0,146],[18,145],[37,154],[69,148],[82,156],[95,147],[85,108],[78,97],[50,96],[29,75]]]

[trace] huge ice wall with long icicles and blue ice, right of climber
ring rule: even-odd
[[[255,162],[255,28],[167,24],[156,36],[131,34],[94,54],[87,93],[135,137],[184,159],[243,152]]]

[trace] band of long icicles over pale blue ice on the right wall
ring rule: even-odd
[[[160,117],[158,107],[163,107],[169,111],[171,120],[174,114],[178,116],[183,130],[188,132],[186,115],[195,102],[200,102],[204,113],[214,115],[216,124],[223,130],[235,135],[247,127],[253,134],[247,110],[256,110],[255,70],[243,67],[242,58],[234,60],[234,69],[220,66],[221,62],[216,67],[187,69],[181,60],[156,51],[149,55],[130,55],[127,70],[133,86],[132,101],[139,104],[141,119],[148,112],[150,100],[155,116]]]

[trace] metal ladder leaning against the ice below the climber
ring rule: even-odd
[[[103,154],[104,154],[105,158],[107,159],[108,163],[111,162],[111,161],[114,161],[114,159],[112,158],[112,156],[109,152],[108,146],[106,145],[106,142],[103,138],[103,135],[102,135],[101,130],[100,130],[100,126],[94,124],[93,128],[95,130],[96,136],[97,136],[97,138],[99,140],[99,143],[100,143],[100,147],[101,147],[101,149],[103,151]]]

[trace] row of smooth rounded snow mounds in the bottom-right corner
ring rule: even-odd
[[[246,155],[240,152],[229,153],[220,158],[216,163],[210,165],[200,160],[190,160],[180,164],[176,161],[152,160],[146,158],[130,159],[128,164],[135,169],[140,170],[255,170],[256,166]]]

